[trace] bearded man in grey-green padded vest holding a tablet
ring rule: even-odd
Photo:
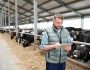
[[[53,18],[53,26],[47,28],[42,36],[40,48],[48,51],[46,53],[46,70],[65,70],[67,52],[71,49],[71,38],[62,23],[63,16],[56,14]]]

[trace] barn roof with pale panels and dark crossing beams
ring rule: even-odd
[[[33,0],[17,1],[19,20],[33,21]],[[90,0],[37,0],[37,3],[39,22],[52,20],[55,13],[60,13],[64,18],[90,16]],[[8,8],[8,4],[0,2],[0,5]],[[10,13],[14,18],[15,0],[10,0]]]

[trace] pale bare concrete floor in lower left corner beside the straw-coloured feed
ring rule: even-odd
[[[23,70],[20,61],[7,47],[7,43],[0,37],[0,70]]]

